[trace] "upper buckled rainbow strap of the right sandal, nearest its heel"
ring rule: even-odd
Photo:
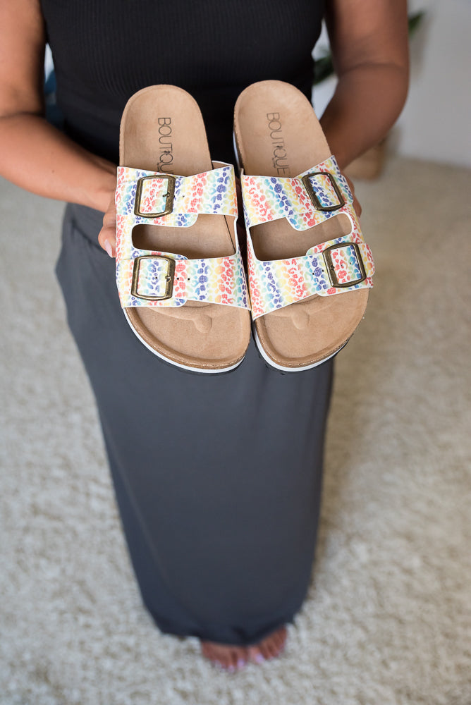
[[[353,195],[336,158],[329,157],[299,176],[240,175],[245,223],[251,228],[286,218],[302,231],[353,210]]]

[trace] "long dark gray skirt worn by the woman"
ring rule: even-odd
[[[57,275],[142,598],[164,632],[257,642],[309,584],[332,364],[281,374],[253,343],[228,374],[162,362],[119,307],[101,223],[67,207]]]

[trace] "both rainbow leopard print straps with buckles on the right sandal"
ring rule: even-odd
[[[241,183],[253,319],[314,294],[330,296],[373,286],[372,252],[335,157],[293,178],[242,175]],[[311,247],[303,257],[257,259],[250,227],[286,218],[295,231],[305,231],[338,214],[350,221],[349,235]]]

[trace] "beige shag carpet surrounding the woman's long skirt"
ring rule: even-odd
[[[62,205],[0,183],[0,703],[471,704],[471,173],[359,183],[377,261],[338,356],[309,598],[220,673],[141,606],[53,274]]]

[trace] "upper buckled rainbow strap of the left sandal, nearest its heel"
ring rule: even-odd
[[[200,213],[238,214],[231,164],[194,176],[118,166],[115,200],[118,215],[173,228],[193,225]]]

